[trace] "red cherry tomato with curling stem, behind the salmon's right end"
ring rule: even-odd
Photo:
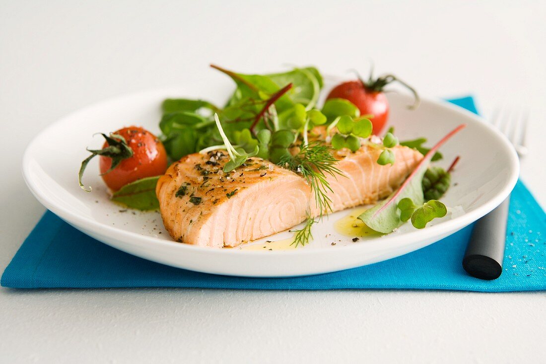
[[[328,94],[327,99],[344,98],[352,102],[359,108],[360,115],[370,115],[373,125],[372,134],[378,135],[389,118],[389,102],[383,93],[383,88],[393,81],[398,81],[412,91],[416,102],[411,108],[416,108],[419,104],[417,92],[413,87],[403,83],[391,74],[383,75],[375,80],[370,76],[367,82],[362,79],[344,82],[334,87]]]

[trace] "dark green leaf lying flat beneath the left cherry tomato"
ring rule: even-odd
[[[156,185],[160,176],[147,177],[124,185],[114,192],[112,201],[137,210],[154,210],[159,208],[156,197]]]

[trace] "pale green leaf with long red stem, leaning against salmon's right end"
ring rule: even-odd
[[[394,191],[389,197],[377,203],[374,207],[366,210],[358,218],[364,221],[364,224],[375,231],[382,233],[390,233],[395,228],[402,224],[398,215],[398,203],[403,198],[411,198],[413,203],[421,205],[424,203],[422,180],[434,153],[451,137],[458,133],[466,124],[461,124],[454,130],[449,132],[425,155],[413,170],[410,176],[402,183],[402,185]],[[422,221],[419,221],[419,223]]]

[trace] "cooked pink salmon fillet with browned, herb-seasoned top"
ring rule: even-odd
[[[328,176],[332,212],[387,197],[423,158],[396,146],[393,166],[380,166],[381,149],[334,151],[343,175]],[[225,151],[190,154],[173,163],[157,183],[163,224],[177,242],[236,246],[281,232],[319,215],[314,192],[300,175],[252,157],[230,173]]]

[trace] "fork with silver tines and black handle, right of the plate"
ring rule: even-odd
[[[529,113],[525,110],[497,108],[491,124],[510,140],[520,158],[529,150],[525,145]],[[462,267],[468,274],[480,279],[497,279],[505,259],[506,220],[510,196],[497,208],[479,219],[474,226]]]

